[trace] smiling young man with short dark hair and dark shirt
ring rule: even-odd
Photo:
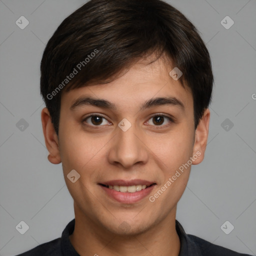
[[[20,255],[245,255],[175,219],[204,157],[212,83],[195,27],[163,1],[91,0],[64,19],[41,60],[41,121],[75,218]]]

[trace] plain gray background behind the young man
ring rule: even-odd
[[[47,160],[39,64],[57,25],[84,2],[0,0],[0,255],[59,237],[74,217],[61,164]],[[200,31],[215,78],[206,156],[192,165],[176,219],[187,233],[255,255],[256,0],[168,2]],[[15,24],[21,15],[24,29]],[[229,29],[220,23],[226,15]],[[15,229],[21,220],[29,226],[23,235]],[[234,225],[229,234],[220,229],[226,220]]]

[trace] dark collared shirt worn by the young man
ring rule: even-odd
[[[72,219],[66,225],[61,237],[42,243],[16,256],[79,256],[69,240],[69,235],[74,230],[74,221]],[[215,245],[195,235],[186,234],[177,220],[176,231],[180,240],[178,256],[252,256]]]

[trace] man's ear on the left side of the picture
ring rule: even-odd
[[[44,107],[41,111],[42,130],[45,145],[49,151],[48,160],[51,163],[58,164],[61,162],[58,146],[58,136],[51,122],[49,111]]]

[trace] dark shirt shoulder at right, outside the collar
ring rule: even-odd
[[[201,255],[207,256],[250,256],[249,254],[243,254],[231,249],[222,247],[220,245],[213,244],[209,241],[206,241],[198,236],[187,234],[191,242],[199,247]]]

